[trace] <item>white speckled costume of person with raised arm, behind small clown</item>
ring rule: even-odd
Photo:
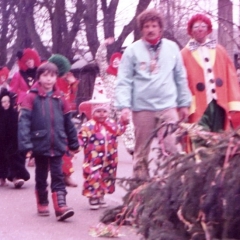
[[[114,53],[111,56],[110,64],[107,62],[107,48],[105,44],[101,44],[96,53],[96,61],[100,68],[100,76],[106,89],[107,98],[110,99],[110,117],[119,118],[119,113],[114,107],[115,85],[117,80],[117,68],[114,68],[113,61],[115,58],[121,59],[120,53]],[[128,124],[125,133],[122,135],[123,143],[129,153],[133,153],[135,146],[134,125],[132,120]]]

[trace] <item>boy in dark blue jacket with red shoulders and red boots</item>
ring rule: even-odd
[[[19,118],[18,145],[22,152],[35,157],[35,193],[38,214],[48,216],[47,177],[50,170],[51,191],[58,221],[74,214],[66,205],[66,185],[62,171],[62,156],[67,148],[79,148],[71,111],[64,95],[56,88],[57,66],[45,62],[39,66],[37,82],[24,98]]]

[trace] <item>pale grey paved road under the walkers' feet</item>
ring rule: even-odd
[[[34,168],[28,168],[31,179],[22,189],[15,189],[10,183],[8,187],[0,188],[0,240],[92,240],[88,231],[96,226],[103,210],[89,210],[88,202],[81,195],[82,153],[74,161],[75,172],[73,179],[79,183],[77,188],[67,188],[67,203],[75,210],[75,215],[65,222],[57,222],[54,215],[52,200],[50,199],[49,217],[39,217],[36,213],[34,196]],[[119,144],[119,177],[131,176],[131,156],[125,151],[121,141]],[[110,206],[121,203],[124,190],[117,187],[114,194],[107,196]],[[121,228],[125,236],[120,239],[137,240],[135,230],[129,227]],[[109,239],[109,238],[100,238]]]

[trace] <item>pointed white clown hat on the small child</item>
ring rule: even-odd
[[[98,109],[109,110],[110,99],[106,97],[106,90],[103,81],[97,77],[94,84],[92,99],[82,102],[79,105],[79,111],[83,112],[87,118],[91,118],[92,114]]]

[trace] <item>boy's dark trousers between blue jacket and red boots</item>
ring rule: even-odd
[[[45,191],[47,189],[47,177],[50,170],[52,192],[63,191],[67,193],[62,172],[62,156],[47,157],[34,154],[34,157],[36,190]]]

